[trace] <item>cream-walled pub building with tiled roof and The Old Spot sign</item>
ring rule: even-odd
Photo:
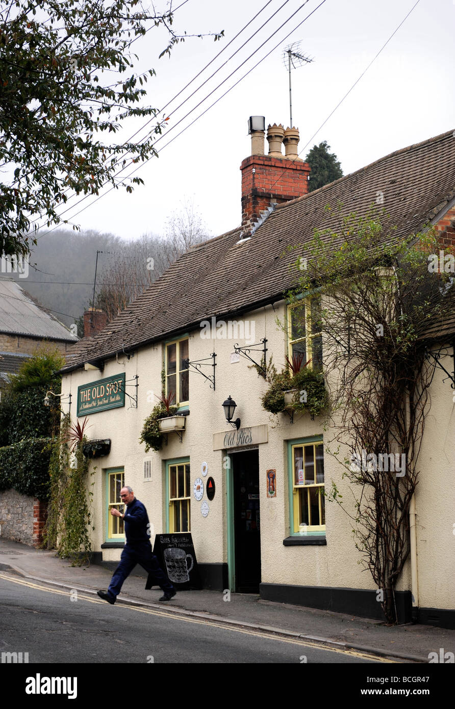
[[[91,461],[93,560],[113,568],[120,558],[123,522],[109,510],[129,485],[147,507],[152,542],[164,535],[177,549],[179,535],[191,534],[203,588],[383,618],[378,589],[358,563],[352,521],[323,494],[335,482],[349,509],[344,468],[326,450],[330,419],[327,428],[324,415],[265,411],[261,368],[273,362],[281,371],[286,355],[303,353],[323,372],[324,341],[311,317],[318,296],[301,301],[306,328],[297,333],[285,295],[296,252],[286,246],[309,242],[315,228],[337,230],[327,204],[341,201],[344,213],[364,215],[381,190],[398,233],[431,222],[453,243],[455,141],[452,132],[439,135],[308,193],[298,130],[269,126],[266,155],[262,117],[249,128],[241,226],[179,257],[115,320],[74,345],[62,369],[62,392],[77,401],[72,421],[87,415],[90,439],[106,442],[106,454]],[[429,326],[432,348],[446,345],[439,361],[449,373],[454,333],[455,318]],[[395,594],[400,622],[414,613],[420,623],[454,627],[450,384],[437,368],[410,532],[415,548]],[[174,393],[178,409],[159,423],[161,449],[145,452],[142,427],[162,391]],[[192,562],[182,571],[182,554],[168,557],[184,581]]]

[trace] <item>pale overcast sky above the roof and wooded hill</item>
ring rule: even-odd
[[[174,0],[174,7],[181,1]],[[162,30],[152,29],[135,42],[138,71],[154,67],[157,72],[157,77],[147,84],[148,104],[155,108],[169,104],[165,108],[169,116],[166,130],[169,137],[164,135],[157,143],[159,157],[152,158],[137,171],[144,186],[135,187],[133,194],[120,189],[96,202],[93,198],[86,199],[67,212],[69,220],[84,230],[96,229],[123,238],[137,238],[143,233],[163,233],[167,218],[179,210],[182,202],[189,200],[201,213],[210,235],[239,225],[239,168],[242,160],[250,155],[247,119],[251,115],[262,115],[266,125],[276,122],[283,123],[285,128],[288,126],[288,74],[283,66],[283,49],[296,41],[300,41],[301,51],[314,57],[312,64],[297,68],[292,74],[293,123],[300,130],[302,157],[315,143],[327,140],[344,174],[349,174],[393,150],[455,128],[454,0],[420,0],[321,130],[318,130],[320,125],[398,28],[415,0],[382,0],[381,3],[326,0],[318,9],[315,8],[320,0],[309,0],[279,30],[303,4],[303,0],[288,0],[259,30],[284,2],[271,0],[218,60],[172,104],[169,101],[266,5],[266,0],[226,3],[188,0],[176,11],[174,30],[182,34],[184,30],[188,34],[225,30],[225,37],[216,43],[211,38],[189,38],[174,48],[170,59],[158,59],[166,44]],[[297,28],[313,10],[308,20]],[[289,33],[290,37],[286,38]],[[271,40],[262,49],[174,128],[270,36]],[[250,37],[245,47],[229,59]],[[277,44],[278,48],[232,91],[166,145]],[[210,74],[226,60],[225,67],[208,81]],[[197,94],[174,112],[201,83],[203,86]],[[122,140],[129,138],[145,121],[142,118],[125,125]],[[145,133],[147,130],[138,137]],[[79,199],[72,199],[67,206]],[[87,205],[82,213],[73,216]]]

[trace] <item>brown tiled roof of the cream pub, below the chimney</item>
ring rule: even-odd
[[[238,243],[239,226],[182,255],[101,333],[74,345],[62,372],[191,330],[211,316],[234,316],[283,298],[293,285],[290,266],[296,261],[296,252],[283,251],[309,242],[315,228],[337,230],[339,202],[343,213],[360,216],[382,193],[381,208],[400,238],[437,216],[454,188],[455,138],[449,131],[280,204],[251,239]],[[325,210],[327,204],[332,211]]]

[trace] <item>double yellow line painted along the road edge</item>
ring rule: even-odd
[[[32,581],[26,581],[25,579],[18,579],[15,576],[9,576],[0,572],[0,579],[5,579],[5,581],[10,581],[12,584],[19,584],[20,586],[28,586],[28,588],[35,588],[37,591],[45,591],[46,593],[56,593],[58,596],[66,596],[68,598],[71,590],[62,591],[60,588],[47,588],[47,586],[42,586],[41,584],[34,584]],[[77,591],[77,600],[87,601],[88,603],[96,603],[97,605],[106,605],[106,601],[101,601],[99,598],[94,598],[89,596],[82,591]],[[319,644],[318,642],[313,642],[311,640],[300,640],[298,638],[293,639],[289,637],[281,637],[275,633],[259,630],[249,630],[242,627],[231,627],[230,625],[225,625],[224,623],[217,623],[215,620],[208,620],[206,618],[188,618],[186,615],[181,615],[180,613],[169,613],[165,610],[155,610],[155,608],[140,608],[137,605],[124,605],[123,603],[119,606],[120,608],[126,608],[128,610],[134,610],[136,613],[147,613],[148,615],[159,615],[162,618],[171,618],[172,620],[181,620],[184,623],[196,623],[198,625],[210,625],[211,627],[219,627],[221,630],[228,630],[230,632],[241,632],[244,635],[252,635],[254,637],[266,637],[268,640],[278,640],[279,642],[287,642],[291,645],[299,645],[300,647],[315,647],[319,650],[325,650],[325,652],[338,652],[342,655],[350,655],[351,657],[359,657],[361,659],[368,659],[375,662],[385,662],[388,664],[394,664],[395,660],[388,659],[386,657],[380,657],[368,652],[361,652],[357,650],[347,650],[341,649],[339,647],[327,647],[325,645]],[[398,661],[399,662],[399,661]]]

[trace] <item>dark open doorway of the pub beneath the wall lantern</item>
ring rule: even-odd
[[[233,506],[233,588],[259,593],[261,582],[261,518],[259,510],[259,450],[231,454]]]

